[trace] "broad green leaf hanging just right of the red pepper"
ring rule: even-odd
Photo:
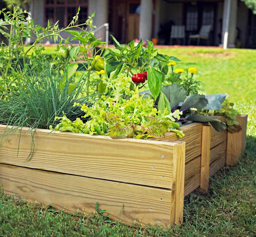
[[[154,100],[156,100],[161,91],[162,73],[153,67],[148,68],[148,85]]]

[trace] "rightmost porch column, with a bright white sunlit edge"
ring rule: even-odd
[[[225,0],[222,24],[222,45],[235,47],[238,0]]]

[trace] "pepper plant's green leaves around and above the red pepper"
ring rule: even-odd
[[[148,72],[148,86],[156,100],[160,94],[161,84],[165,80],[165,75],[168,73],[168,62],[170,60],[180,61],[174,56],[167,56],[157,53],[154,49],[154,44],[147,40],[148,47],[143,46],[142,40],[137,46],[132,40],[128,45],[119,44],[116,38],[113,38],[115,49],[107,49],[106,58],[106,76],[119,68],[120,73],[126,74],[127,77],[132,78],[134,74]],[[132,80],[131,88],[134,88]],[[146,86],[146,82],[139,84],[139,89]]]

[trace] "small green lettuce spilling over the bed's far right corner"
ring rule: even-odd
[[[229,132],[235,133],[241,130],[241,126],[239,122],[236,120],[236,116],[238,115],[238,111],[234,109],[234,103],[229,102],[226,99],[223,102],[223,107],[219,110],[202,110],[200,112],[202,115],[207,116],[225,116],[226,117],[226,125]]]

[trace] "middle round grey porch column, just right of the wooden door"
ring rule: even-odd
[[[140,1],[140,22],[139,22],[139,38],[151,39],[152,37],[152,14],[153,0]]]

